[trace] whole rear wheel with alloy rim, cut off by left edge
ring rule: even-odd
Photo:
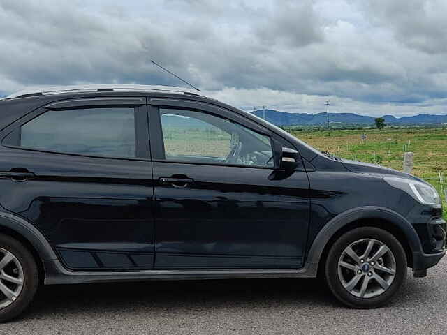
[[[22,313],[36,294],[38,269],[19,241],[0,234],[0,322]]]

